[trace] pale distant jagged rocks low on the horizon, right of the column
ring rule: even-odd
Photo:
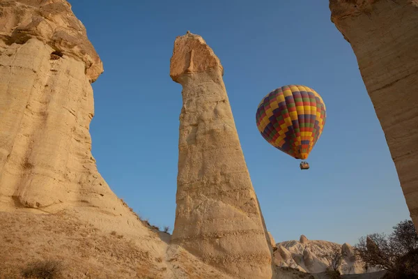
[[[291,267],[307,273],[324,272],[330,262],[325,255],[335,248],[344,252],[346,256],[341,264],[341,274],[371,273],[379,271],[376,268],[365,269],[364,264],[355,257],[352,246],[348,243],[339,245],[330,241],[308,240],[302,234],[300,241],[284,241],[277,243],[274,251],[274,263],[280,267]]]

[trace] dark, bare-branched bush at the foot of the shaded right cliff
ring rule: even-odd
[[[389,236],[369,234],[359,239],[355,248],[357,255],[366,266],[376,266],[396,273],[398,272],[398,266],[405,261],[404,256],[408,253],[412,255],[417,251],[418,236],[411,220],[401,221],[393,228],[394,232]],[[408,261],[410,260],[410,257],[408,257]],[[418,265],[418,262],[415,264]]]

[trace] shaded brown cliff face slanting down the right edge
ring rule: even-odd
[[[353,47],[418,231],[418,1],[330,0]]]

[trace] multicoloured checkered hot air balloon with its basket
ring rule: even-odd
[[[258,105],[256,123],[263,138],[293,158],[306,160],[318,141],[327,113],[314,89],[286,85],[268,93]],[[300,169],[309,169],[302,161]]]

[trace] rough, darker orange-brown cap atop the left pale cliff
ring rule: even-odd
[[[37,38],[58,53],[83,61],[91,82],[103,72],[102,61],[87,38],[84,25],[73,15],[67,1],[3,0],[0,8],[3,47],[4,43],[24,45],[31,38]]]

